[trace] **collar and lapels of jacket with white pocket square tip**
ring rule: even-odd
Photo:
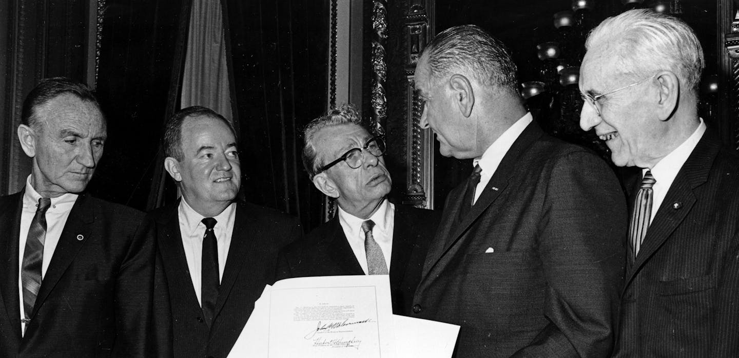
[[[464,197],[466,190],[466,183],[457,186],[452,193],[450,193],[451,199],[447,201],[447,205],[451,208],[444,208],[443,219],[441,222],[442,230],[438,232],[434,239],[434,243],[429,246],[429,254],[426,255],[426,263],[423,265],[423,276],[421,282],[423,282],[429,271],[439,262],[444,254],[452,249],[463,236],[465,232],[477,221],[483,212],[486,212],[488,208],[493,206],[497,202],[500,195],[505,192],[508,188],[508,184],[511,180],[514,180],[514,172],[517,168],[517,164],[520,162],[520,158],[526,150],[531,146],[534,141],[537,141],[543,135],[542,129],[534,122],[531,122],[521,132],[521,135],[514,141],[513,145],[508,152],[505,153],[503,161],[500,161],[500,165],[495,170],[492,178],[488,181],[485,189],[483,189],[480,197],[474,203],[474,206],[470,209],[467,217],[462,222],[454,227],[453,220],[457,220],[459,215],[460,207],[462,206],[461,201]],[[453,195],[453,196],[452,196]],[[443,236],[441,236],[443,235]],[[449,235],[449,236],[447,236]],[[439,250],[439,247],[443,249]]]

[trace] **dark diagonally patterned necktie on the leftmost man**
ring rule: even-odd
[[[21,283],[23,285],[24,322],[26,323],[30,320],[38,289],[41,288],[41,265],[44,262],[44,240],[46,240],[47,229],[46,212],[49,206],[51,206],[51,199],[46,197],[38,199],[38,209],[31,220],[23,251]]]

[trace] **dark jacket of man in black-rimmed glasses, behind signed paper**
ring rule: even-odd
[[[436,232],[439,215],[431,210],[395,206],[390,253],[392,311],[410,314],[426,248]],[[338,215],[314,229],[304,240],[282,249],[278,280],[289,277],[364,274],[354,255]]]

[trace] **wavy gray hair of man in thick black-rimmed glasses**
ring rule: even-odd
[[[316,151],[316,143],[314,137],[321,129],[328,126],[338,126],[341,124],[356,124],[362,126],[361,115],[353,104],[343,104],[341,107],[329,109],[325,115],[310,121],[304,130],[305,144],[303,146],[303,166],[305,166],[308,177],[313,180],[324,163],[316,161],[318,151]]]

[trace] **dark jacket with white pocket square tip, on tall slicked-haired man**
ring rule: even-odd
[[[416,317],[460,325],[457,357],[607,357],[627,214],[613,171],[531,123],[467,217],[446,199]]]

